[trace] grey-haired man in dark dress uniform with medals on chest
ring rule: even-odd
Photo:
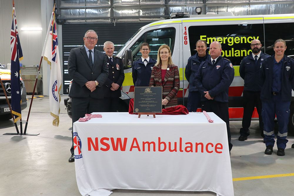
[[[103,85],[104,94],[104,111],[116,112],[119,103],[119,97],[121,96],[121,85],[125,78],[123,72],[123,61],[121,58],[113,56],[114,44],[111,41],[104,43],[103,50],[106,54],[107,66],[108,66],[108,78]]]

